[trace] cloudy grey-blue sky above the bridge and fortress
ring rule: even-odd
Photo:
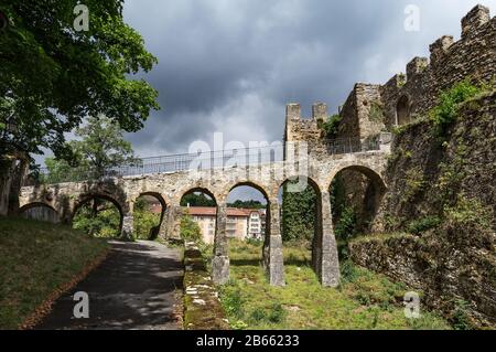
[[[128,0],[126,20],[160,61],[147,79],[163,107],[128,138],[142,156],[187,151],[215,131],[280,140],[287,103],[306,116],[317,100],[336,110],[355,82],[381,83],[456,35],[476,2]],[[408,3],[421,9],[421,32],[403,30]]]

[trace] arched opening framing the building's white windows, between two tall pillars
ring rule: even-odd
[[[227,198],[226,233],[233,273],[250,267],[262,270],[260,263],[263,243],[270,230],[270,209],[267,192],[259,185],[245,182],[230,189]]]

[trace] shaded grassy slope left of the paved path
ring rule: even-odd
[[[0,217],[0,329],[17,329],[107,248],[67,226]]]

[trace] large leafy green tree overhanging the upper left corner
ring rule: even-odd
[[[0,31],[0,159],[47,148],[72,161],[64,134],[86,116],[105,114],[123,130],[137,131],[150,110],[159,109],[157,90],[133,78],[157,58],[123,22],[123,0],[85,0],[89,30],[79,32],[75,4],[1,3],[10,25]]]

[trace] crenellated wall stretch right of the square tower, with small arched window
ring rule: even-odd
[[[471,77],[475,82],[496,79],[496,18],[489,9],[477,6],[462,20],[462,39],[441,36],[430,45],[430,60],[414,57],[401,75],[381,86],[386,125],[396,125],[401,97],[409,102],[410,117],[423,116],[439,102],[440,94],[455,83]]]

